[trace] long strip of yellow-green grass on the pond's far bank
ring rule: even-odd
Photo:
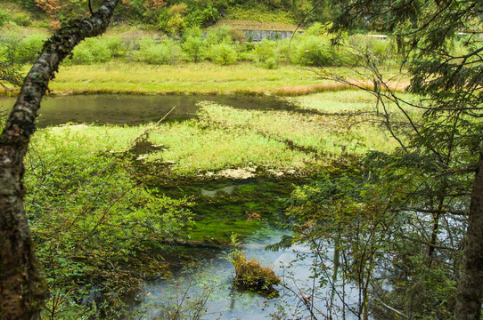
[[[336,68],[333,70],[348,72]],[[347,88],[344,84],[321,80],[307,68],[289,65],[276,69],[242,62],[233,66],[209,62],[154,66],[119,60],[94,65],[61,66],[50,84],[51,94],[58,95],[199,93],[297,96]]]

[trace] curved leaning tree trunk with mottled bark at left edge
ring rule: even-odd
[[[45,282],[37,267],[23,205],[23,159],[36,130],[40,100],[59,64],[89,36],[109,25],[119,0],[105,0],[84,20],[74,20],[45,42],[30,69],[12,113],[0,135],[0,319],[38,319],[45,300]]]

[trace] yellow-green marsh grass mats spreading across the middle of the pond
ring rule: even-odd
[[[371,102],[361,105],[350,102],[341,108],[344,100],[356,100],[361,95],[361,92],[344,93],[347,94],[339,95],[340,100],[332,92],[301,99],[306,107],[310,99],[314,100],[312,104],[315,100],[326,101],[328,115],[241,110],[205,102],[197,119],[160,124],[152,129],[149,140],[164,149],[145,155],[143,161],[168,163],[175,175],[247,166],[301,171],[307,165],[327,164],[335,157],[363,155],[373,149],[389,152],[396,148],[396,141],[388,132],[366,122],[371,120],[369,116],[347,116],[351,108],[371,108]],[[318,110],[323,113],[324,102],[319,103]],[[343,111],[330,115],[334,103],[339,103],[336,108]],[[125,151],[150,125],[80,124],[46,128],[37,132],[32,146],[43,151],[70,148],[78,153]]]

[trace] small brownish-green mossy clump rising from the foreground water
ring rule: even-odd
[[[241,290],[253,290],[263,295],[276,296],[274,284],[280,284],[280,278],[274,270],[265,268],[255,260],[247,261],[244,254],[238,254],[233,260],[235,277],[233,282]]]

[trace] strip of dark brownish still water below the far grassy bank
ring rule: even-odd
[[[185,120],[196,115],[200,101],[242,109],[292,110],[287,101],[274,97],[210,95],[76,95],[47,97],[42,101],[38,126],[76,124],[137,125],[160,120],[176,107],[167,121]],[[0,108],[10,110],[15,98],[0,98]]]

